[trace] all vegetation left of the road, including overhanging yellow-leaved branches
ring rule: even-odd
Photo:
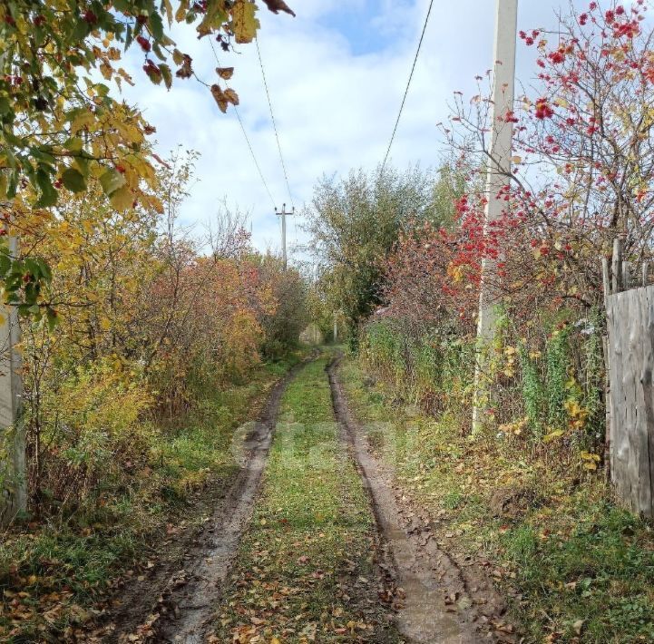
[[[307,319],[304,279],[251,247],[242,216],[221,210],[210,239],[181,229],[195,155],[156,154],[156,128],[120,94],[195,83],[172,30],[248,44],[259,6],[61,9],[0,6],[0,286],[22,334],[3,358],[15,348],[24,381],[20,426],[0,431],[3,641],[74,639],[123,571],[198,519],[236,468],[231,431],[297,361]],[[202,83],[217,112],[239,102],[233,72]],[[22,483],[15,516],[5,500]]]

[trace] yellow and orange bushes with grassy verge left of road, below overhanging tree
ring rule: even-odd
[[[161,214],[89,190],[22,236],[58,304],[54,326],[22,326],[29,502],[0,543],[1,638],[68,638],[106,608],[120,573],[229,482],[231,432],[298,359],[298,272],[252,249],[239,215],[219,213],[210,254],[178,231],[192,161],[161,172]]]

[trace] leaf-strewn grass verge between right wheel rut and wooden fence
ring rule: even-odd
[[[611,503],[599,475],[565,478],[551,464],[471,441],[453,413],[432,418],[398,407],[353,359],[341,376],[376,453],[439,519],[447,549],[491,561],[500,588],[518,598],[511,617],[525,642],[654,641],[654,536]],[[539,502],[497,516],[500,487],[534,490]]]

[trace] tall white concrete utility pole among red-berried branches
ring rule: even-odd
[[[484,228],[488,230],[491,222],[502,217],[506,205],[497,194],[510,180],[512,162],[513,123],[504,117],[513,111],[515,93],[515,42],[518,30],[518,0],[497,0],[494,45],[493,79],[493,131],[491,148],[487,159],[486,196],[488,203],[484,212]],[[497,265],[496,259],[483,259],[482,280],[479,293],[479,318],[477,322],[477,364],[474,373],[473,433],[483,423],[487,408],[484,403],[487,387],[483,376],[487,360],[485,350],[493,340],[496,327],[496,314],[493,308],[493,292],[489,287],[489,277]],[[492,281],[492,280],[491,280]]]

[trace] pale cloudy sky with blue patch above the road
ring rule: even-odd
[[[259,47],[268,77],[292,199],[298,210],[323,174],[374,168],[383,160],[425,20],[428,0],[288,0],[297,17],[261,5]],[[575,4],[581,3],[575,0]],[[586,3],[583,3],[586,4]],[[568,0],[521,0],[519,29],[556,25]],[[405,112],[391,153],[397,167],[435,165],[444,151],[436,123],[444,121],[456,90],[473,93],[473,78],[493,62],[495,0],[435,0]],[[173,33],[201,79],[214,83],[216,62],[208,39]],[[157,128],[161,156],[181,145],[200,152],[198,181],[182,218],[198,234],[227,199],[251,215],[259,249],[279,248],[278,218],[232,110],[219,112],[207,88],[192,80],[171,92],[151,86],[132,47],[127,65],[138,80],[125,93]],[[219,50],[220,51],[220,50]],[[518,75],[532,75],[532,50],[518,45]],[[278,158],[255,46],[220,53],[235,66],[229,82],[275,204],[290,201]],[[298,218],[297,218],[298,219]],[[302,239],[289,223],[289,243]]]

